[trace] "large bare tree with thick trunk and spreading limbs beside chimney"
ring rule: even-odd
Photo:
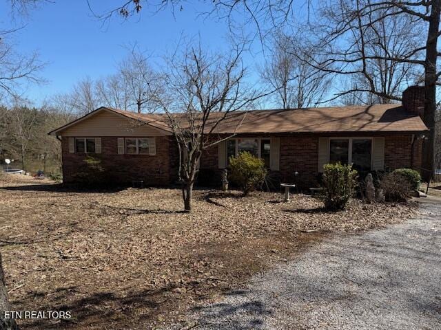
[[[441,0],[331,0],[326,3],[321,12],[325,14],[325,21],[321,26],[325,33],[318,34],[318,43],[322,45],[322,50],[328,56],[325,61],[314,61],[314,58],[309,58],[310,64],[322,67],[326,72],[334,74],[363,76],[367,81],[367,88],[364,91],[382,98],[382,102],[400,99],[394,94],[396,89],[393,86],[396,83],[382,84],[382,86],[380,84],[382,88],[378,89],[376,81],[371,76],[372,72],[369,72],[369,63],[376,61],[380,68],[384,67],[384,63],[387,63],[389,68],[398,63],[403,66],[404,76],[406,76],[406,65],[416,70],[418,68],[424,70],[423,120],[429,127],[430,133],[429,140],[424,141],[422,163],[425,168],[424,178],[429,179],[434,173],[436,85],[441,76],[437,67],[438,56],[440,56],[437,45],[441,35],[439,30]],[[407,34],[402,33],[396,36],[398,43],[392,43],[394,47],[391,47],[389,42],[384,43],[384,39],[378,38],[378,34],[381,35],[380,29],[387,26],[384,25],[385,22],[392,17],[407,20],[406,24],[411,25],[416,29],[415,31],[424,31],[426,39],[419,37],[416,43],[409,43],[402,47],[400,41],[407,40]],[[347,42],[347,36],[351,34],[352,37]],[[393,38],[395,37],[392,36]],[[351,43],[351,40],[357,40],[357,42]],[[387,40],[390,41],[391,38]],[[374,49],[379,52],[373,52]],[[382,69],[381,72],[384,74],[387,70]],[[389,72],[389,75],[384,74],[384,77],[383,82],[394,80],[397,76],[390,76]],[[345,93],[350,92],[351,90],[345,91]]]

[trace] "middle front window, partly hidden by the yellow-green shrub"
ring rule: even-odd
[[[227,140],[227,164],[230,157],[236,157],[238,153],[248,151],[252,155],[263,159],[265,166],[269,168],[269,156],[271,140],[261,138],[239,138]]]

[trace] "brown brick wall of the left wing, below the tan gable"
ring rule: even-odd
[[[91,154],[101,159],[106,180],[127,184],[143,180],[146,185],[167,185],[172,180],[170,147],[172,137],[156,137],[156,155],[119,155],[117,137],[101,137],[101,154]],[[69,153],[68,137],[62,139],[63,181],[74,182],[75,174],[84,166],[84,153]]]

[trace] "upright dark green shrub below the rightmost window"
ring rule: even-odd
[[[327,210],[343,210],[357,186],[357,171],[351,165],[326,164],[322,199]]]

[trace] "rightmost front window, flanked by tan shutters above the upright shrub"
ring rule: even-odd
[[[329,162],[353,164],[356,170],[371,169],[372,139],[348,137],[329,140]]]

